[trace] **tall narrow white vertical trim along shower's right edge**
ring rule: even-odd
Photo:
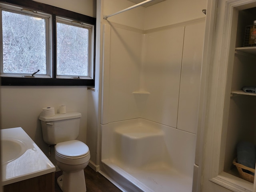
[[[202,58],[202,70],[201,70],[201,82],[200,82],[200,103],[198,109],[198,129],[197,129],[197,141],[196,141],[196,156],[195,156],[195,164],[198,164],[198,177],[193,178],[193,180],[197,179],[197,187],[196,191],[193,192],[202,192],[202,184],[204,184],[204,150],[206,148],[207,140],[207,129],[206,125],[206,117],[208,110],[208,92],[210,90],[209,76],[210,76],[210,63],[212,61],[213,55],[213,45],[214,45],[214,31],[216,24],[216,0],[208,0],[207,3],[207,15],[206,15],[206,28],[204,35],[204,50],[203,50],[203,58]]]

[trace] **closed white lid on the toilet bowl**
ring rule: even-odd
[[[86,144],[78,140],[65,141],[56,144],[55,152],[61,156],[80,157],[88,154],[89,148]]]

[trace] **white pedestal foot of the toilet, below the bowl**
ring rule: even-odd
[[[62,192],[86,192],[84,170],[78,172],[64,172],[57,179]]]

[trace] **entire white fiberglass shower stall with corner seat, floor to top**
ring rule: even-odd
[[[192,191],[204,4],[164,0],[103,19],[134,3],[101,1],[100,170],[123,190]]]

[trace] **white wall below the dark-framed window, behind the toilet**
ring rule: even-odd
[[[60,105],[66,105],[67,111],[82,114],[78,140],[86,142],[87,95],[85,86],[2,86],[1,129],[22,127],[48,156],[48,145],[43,141],[38,120],[40,112],[52,106],[57,113]]]

